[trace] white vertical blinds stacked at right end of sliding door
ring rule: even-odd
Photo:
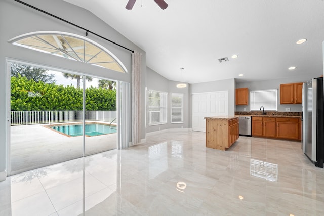
[[[118,149],[125,149],[129,147],[129,83],[118,82],[117,85],[117,136]]]

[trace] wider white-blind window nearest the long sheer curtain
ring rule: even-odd
[[[148,125],[167,123],[168,93],[148,90]]]

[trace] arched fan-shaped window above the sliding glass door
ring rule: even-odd
[[[14,45],[49,53],[63,58],[108,68],[121,73],[125,66],[106,48],[76,34],[33,32],[11,39]]]

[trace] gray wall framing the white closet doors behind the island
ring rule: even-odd
[[[228,115],[235,112],[235,79],[190,84],[189,126],[192,127],[192,97],[194,93],[228,91]]]

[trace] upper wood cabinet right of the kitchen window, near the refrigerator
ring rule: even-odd
[[[280,85],[280,104],[301,104],[303,82]]]

